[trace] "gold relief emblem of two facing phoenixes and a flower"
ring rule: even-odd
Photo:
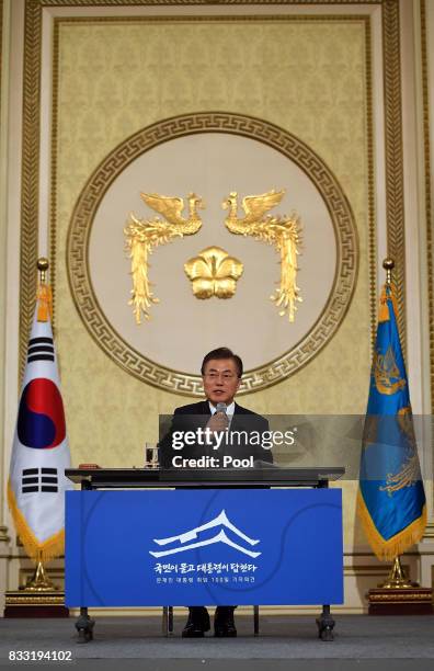
[[[285,191],[269,191],[262,195],[249,195],[242,200],[244,216],[238,217],[238,193],[231,192],[224,201],[224,208],[229,208],[225,220],[228,230],[236,235],[252,236],[256,240],[273,244],[281,253],[281,282],[271,299],[281,308],[279,315],[288,314],[289,321],[295,320],[296,303],[301,303],[297,286],[297,255],[300,244],[300,221],[296,214],[292,216],[272,216],[267,214],[283,198]],[[126,250],[132,260],[130,274],[133,289],[129,305],[133,305],[136,322],[141,323],[141,316],[150,319],[149,308],[159,299],[151,291],[149,281],[149,255],[160,244],[171,242],[176,237],[191,236],[202,227],[197,214],[204,204],[194,193],[187,196],[187,217],[183,216],[184,200],[163,196],[157,193],[141,193],[142,201],[164,218],[138,219],[129,215],[124,234]],[[237,288],[237,281],[243,272],[241,261],[229,257],[219,247],[208,247],[197,257],[184,264],[185,273],[192,281],[193,293],[197,298],[230,298]]]

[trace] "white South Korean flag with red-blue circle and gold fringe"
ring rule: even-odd
[[[49,317],[36,305],[11,455],[8,499],[30,557],[46,561],[64,553],[65,477],[70,467],[64,403]]]

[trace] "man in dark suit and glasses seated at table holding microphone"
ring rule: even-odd
[[[233,400],[241,384],[242,371],[240,356],[228,348],[218,348],[206,354],[201,368],[206,400],[175,409],[171,429],[159,445],[160,465],[163,468],[201,467],[201,457],[205,457],[203,463],[214,468],[226,465],[237,467],[238,464],[241,467],[253,467],[259,460],[273,462],[271,451],[265,450],[261,441],[253,441],[253,435],[258,439],[269,432],[267,420]],[[197,434],[198,429],[202,434]],[[176,452],[173,448],[173,436],[185,435],[187,431],[195,431],[199,440],[193,444],[185,443]],[[233,621],[236,607],[216,609],[215,636],[237,636]],[[204,606],[190,606],[182,636],[202,637],[208,629],[207,610]]]

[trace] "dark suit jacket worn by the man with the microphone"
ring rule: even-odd
[[[172,457],[175,455],[183,458],[198,458],[208,455],[219,458],[220,463],[225,455],[240,459],[252,456],[253,460],[273,462],[271,450],[264,450],[258,441],[258,436],[260,437],[270,430],[267,420],[237,402],[235,403],[228,440],[224,440],[218,450],[199,444],[185,445],[182,450],[173,450],[172,436],[175,431],[185,433],[186,431],[196,431],[198,428],[205,429],[210,416],[207,400],[175,409],[170,431],[159,443],[159,459],[163,468],[172,468]]]

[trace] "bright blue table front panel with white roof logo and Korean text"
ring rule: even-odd
[[[68,491],[66,605],[343,603],[340,489]]]

